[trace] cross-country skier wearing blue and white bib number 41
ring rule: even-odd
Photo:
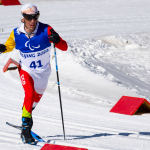
[[[25,92],[21,138],[24,143],[34,144],[32,110],[40,101],[51,74],[51,43],[62,51],[66,51],[68,46],[51,26],[38,21],[40,12],[35,5],[23,5],[21,15],[21,26],[11,32],[5,44],[0,44],[0,52],[19,50],[18,70]]]

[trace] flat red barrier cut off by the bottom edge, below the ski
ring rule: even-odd
[[[41,150],[88,150],[86,148],[77,148],[71,146],[55,145],[55,144],[45,144]]]

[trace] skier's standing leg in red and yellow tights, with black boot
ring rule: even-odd
[[[34,102],[34,81],[32,77],[24,70],[19,69],[20,79],[25,91],[23,110],[22,110],[22,129],[21,138],[24,143],[34,143],[35,140],[31,135],[32,105]]]

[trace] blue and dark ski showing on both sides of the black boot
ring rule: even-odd
[[[22,128],[21,126],[17,126],[17,125],[11,124],[11,123],[9,123],[9,122],[6,122],[6,124],[9,125],[9,126],[11,126],[11,127],[16,128],[16,129],[19,129],[19,130],[21,130],[21,128]],[[38,135],[37,135],[36,133],[34,133],[33,131],[31,131],[31,135],[32,135],[32,137],[33,137],[34,139],[37,140],[34,145],[36,145],[36,146],[41,146],[41,145],[38,145],[39,142],[46,143],[40,136],[38,136]]]

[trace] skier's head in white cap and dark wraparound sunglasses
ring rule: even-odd
[[[25,24],[25,29],[33,32],[39,15],[40,13],[35,5],[30,3],[23,5],[21,8],[21,22]]]

